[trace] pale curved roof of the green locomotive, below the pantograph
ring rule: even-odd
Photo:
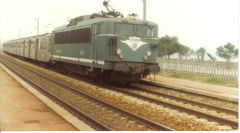
[[[141,19],[136,19],[136,18],[116,18],[116,17],[95,17],[95,18],[90,18],[90,15],[85,15],[85,16],[80,16],[77,17],[76,19],[81,18],[78,22],[75,22],[74,24],[71,24],[74,19],[70,20],[70,23],[68,25],[64,25],[61,27],[55,28],[53,31],[61,31],[65,29],[72,29],[72,28],[77,28],[77,27],[84,27],[84,26],[90,26],[95,23],[101,23],[101,22],[119,22],[119,23],[125,23],[125,24],[148,24],[148,25],[155,25],[157,26],[157,23],[150,22],[150,21],[143,21]]]

